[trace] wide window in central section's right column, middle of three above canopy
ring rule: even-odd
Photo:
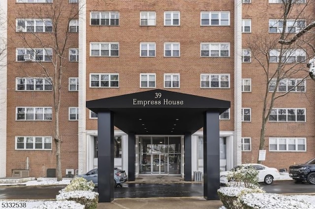
[[[202,57],[230,56],[230,44],[229,43],[201,43],[200,56]]]

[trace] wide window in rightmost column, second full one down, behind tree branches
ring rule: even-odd
[[[280,61],[280,50],[274,49],[269,51],[269,62]],[[281,62],[306,62],[306,52],[302,49],[284,50],[281,56]]]

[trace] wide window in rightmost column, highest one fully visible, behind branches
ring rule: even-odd
[[[283,20],[269,20],[269,32],[281,33],[283,30],[286,33],[297,33],[306,26],[305,20],[287,20],[284,28]]]

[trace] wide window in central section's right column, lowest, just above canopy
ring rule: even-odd
[[[201,88],[229,88],[230,74],[200,74]]]

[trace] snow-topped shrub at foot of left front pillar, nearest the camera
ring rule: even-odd
[[[68,191],[62,192],[56,196],[57,200],[73,200],[79,204],[85,205],[85,209],[96,209],[98,203],[98,193],[93,191]]]

